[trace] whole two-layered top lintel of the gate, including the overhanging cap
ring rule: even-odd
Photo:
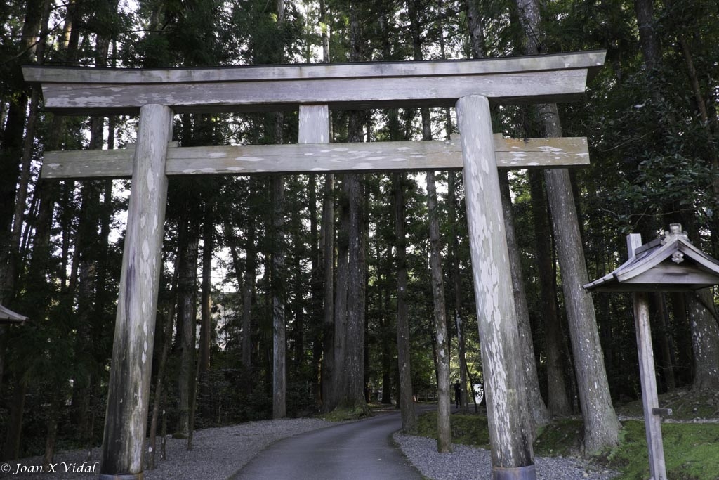
[[[485,60],[277,65],[161,71],[24,67],[60,114],[134,114],[162,101],[175,112],[447,107],[467,95],[502,104],[572,101],[605,51]]]

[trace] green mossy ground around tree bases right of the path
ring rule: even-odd
[[[663,395],[661,407],[672,408],[676,415],[664,422],[661,432],[668,480],[719,479],[719,423],[700,423],[697,419],[718,417],[717,395],[710,393],[674,392]],[[618,408],[620,415],[641,417],[641,402]],[[692,422],[692,420],[695,420]],[[489,448],[487,418],[482,415],[452,415],[452,442]],[[436,438],[436,414],[419,417],[418,435]],[[558,419],[538,432],[534,443],[536,456],[580,455],[584,425],[580,418]],[[622,422],[617,448],[592,459],[602,468],[620,472],[621,480],[649,478],[649,457],[646,448],[644,421]]]

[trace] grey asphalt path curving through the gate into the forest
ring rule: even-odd
[[[398,412],[285,438],[257,455],[233,478],[258,479],[421,479],[398,448]]]

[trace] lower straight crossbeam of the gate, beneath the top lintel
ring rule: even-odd
[[[329,135],[329,132],[326,134]],[[585,137],[502,139],[495,142],[497,166],[567,168],[589,165]],[[459,170],[459,138],[452,141],[370,142],[298,145],[183,147],[170,145],[165,173],[250,175],[393,170]],[[132,176],[132,150],[45,152],[42,178]]]

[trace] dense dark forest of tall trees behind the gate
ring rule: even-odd
[[[531,5],[541,22],[526,21]],[[137,123],[55,117],[20,65],[206,67],[607,49],[585,100],[558,106],[563,135],[589,139],[591,166],[569,178],[591,280],[626,259],[628,233],[648,241],[669,223],[719,258],[718,15],[715,2],[679,0],[0,4],[0,303],[31,319],[0,325],[3,458],[51,458],[57,448],[101,442],[129,181],[38,176],[43,151],[124,148]],[[549,135],[542,112],[496,107],[495,132]],[[456,133],[449,109],[331,112],[331,127],[335,142]],[[183,114],[174,130],[180,145],[193,146],[296,142],[297,128],[297,113],[285,112]],[[549,415],[577,413],[581,385],[555,241],[567,225],[552,225],[541,172],[503,178],[541,393],[530,402]],[[435,210],[439,241],[431,242]],[[193,427],[342,404],[400,403],[408,391],[435,398],[433,245],[450,375],[467,389],[482,365],[461,173],[171,178],[152,428],[189,435]],[[631,298],[593,300],[589,321],[608,393],[615,403],[636,399]],[[662,391],[719,388],[714,304],[711,291],[651,296]],[[360,325],[360,340],[345,344],[342,325]],[[273,349],[280,330],[281,356]],[[343,349],[359,352],[361,365],[349,369],[362,375],[359,404],[338,393],[348,381],[338,379]],[[278,357],[286,412],[273,385]],[[398,361],[411,364],[411,384],[400,381]]]

